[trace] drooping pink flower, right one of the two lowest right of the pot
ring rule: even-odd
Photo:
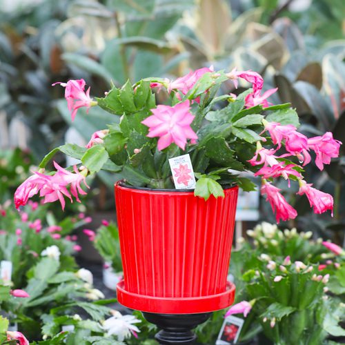
[[[306,181],[299,179],[298,195],[306,195],[309,204],[313,207],[314,213],[320,214],[331,210],[333,217],[333,197],[331,194],[324,193],[321,190],[312,188],[313,184],[307,184]]]

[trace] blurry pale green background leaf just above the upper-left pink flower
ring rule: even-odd
[[[110,72],[94,59],[73,52],[65,52],[61,57],[67,63],[72,63],[92,75],[98,75],[108,83],[110,82]]]

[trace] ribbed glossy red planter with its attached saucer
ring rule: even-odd
[[[193,192],[115,185],[124,280],[117,299],[149,313],[207,313],[233,303],[226,282],[238,188]]]

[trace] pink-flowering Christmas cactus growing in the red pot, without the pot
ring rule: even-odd
[[[223,83],[237,86],[238,79],[251,88],[237,96],[222,94]],[[241,175],[247,170],[262,177],[261,193],[277,221],[297,216],[273,184],[279,177],[288,184],[290,179],[298,181],[297,194],[306,195],[315,213],[333,210],[333,197],[308,184],[303,171],[312,160],[322,170],[338,156],[341,143],[331,132],[312,138],[298,132],[295,110],[289,103],[270,105],[267,98],[277,89],[263,92],[264,80],[257,72],[201,68],[175,81],[128,81],[95,99],[83,79],[56,84],[65,88],[72,120],[79,108],[99,106],[113,114],[114,121],[99,128],[86,147],[66,144],[46,155],[39,170],[17,189],[17,208],[37,194],[45,202],[59,199],[62,208],[65,197],[80,201],[88,188],[86,177],[99,170],[113,172],[114,181],[159,189],[174,188],[172,177],[184,186],[196,178],[195,196],[206,200],[210,195],[223,197],[223,188],[232,184],[253,190],[255,185]],[[164,104],[157,104],[158,92]],[[65,169],[54,162],[56,171],[47,172],[46,164],[59,150],[81,164]],[[190,156],[193,171],[183,164],[170,169],[168,159],[181,155]]]

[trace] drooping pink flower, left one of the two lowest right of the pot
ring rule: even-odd
[[[297,217],[297,211],[293,206],[288,204],[282,194],[279,193],[279,188],[272,184],[263,181],[261,194],[266,195],[266,201],[270,203],[273,212],[276,213],[275,219],[279,223],[280,219],[286,221],[288,219],[295,219]]]

